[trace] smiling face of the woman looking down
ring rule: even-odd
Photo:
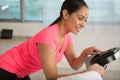
[[[67,32],[77,34],[85,26],[88,18],[88,8],[82,7],[76,12],[68,15],[65,19],[65,26]]]

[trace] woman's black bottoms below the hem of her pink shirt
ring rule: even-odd
[[[0,80],[30,80],[29,76],[18,78],[16,74],[10,73],[0,68]]]

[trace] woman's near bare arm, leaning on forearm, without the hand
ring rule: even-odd
[[[41,43],[38,44],[38,48],[40,51],[42,67],[46,80],[57,80],[60,77],[81,74],[93,70],[93,68],[90,68],[89,70],[84,70],[82,72],[76,72],[71,74],[58,74],[57,64],[55,60],[55,56],[56,56],[55,51],[50,46]]]

